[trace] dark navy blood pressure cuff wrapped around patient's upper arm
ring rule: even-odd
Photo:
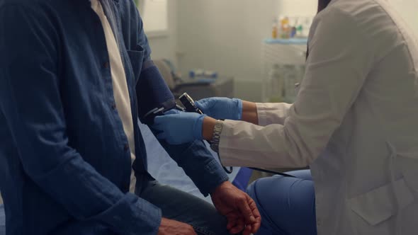
[[[147,125],[154,117],[176,107],[176,100],[154,62],[145,62],[136,84],[138,116]]]

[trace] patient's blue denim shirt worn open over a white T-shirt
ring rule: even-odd
[[[137,103],[146,100],[137,101],[135,84],[151,50],[135,4],[107,1],[117,19],[114,33],[123,39],[137,123]],[[61,234],[100,224],[115,234],[157,234],[159,208],[128,193],[130,150],[115,109],[103,28],[90,1],[0,0],[0,35],[6,233]],[[147,153],[137,125],[134,132],[133,168],[141,182],[150,177]],[[204,195],[227,180],[203,142],[161,144]]]

